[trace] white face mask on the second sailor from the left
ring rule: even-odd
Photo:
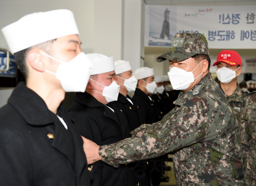
[[[92,79],[90,78],[90,80],[92,80]],[[98,82],[96,82],[96,83],[98,83]],[[98,83],[98,84],[100,84],[100,83]],[[104,86],[102,84],[100,84],[100,85]],[[96,90],[94,90],[94,91],[102,94],[102,96],[104,96],[106,98],[107,102],[110,103],[112,101],[117,101],[119,89],[120,89],[120,85],[118,85],[115,81],[113,81],[109,86],[104,86],[102,93],[100,93]]]

